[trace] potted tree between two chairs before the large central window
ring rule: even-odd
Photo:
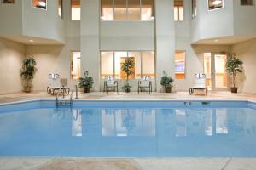
[[[132,71],[132,69],[134,68],[134,65],[135,65],[134,60],[132,60],[131,58],[125,59],[125,62],[122,63],[121,65],[121,69],[122,71],[125,72],[125,77],[126,77],[126,82],[125,82],[125,85],[123,86],[123,90],[126,93],[129,93],[131,91],[131,86],[128,81],[129,81],[129,77],[134,74],[134,72]]]

